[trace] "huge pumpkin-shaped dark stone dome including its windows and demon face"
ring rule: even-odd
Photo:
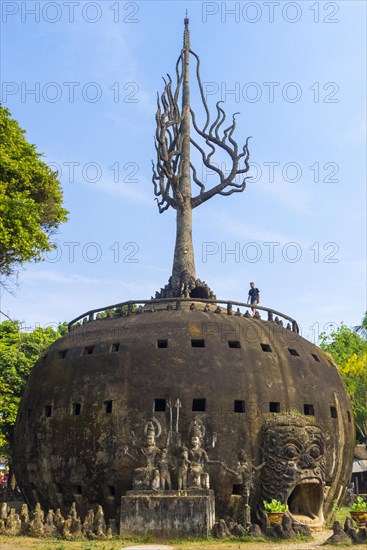
[[[253,505],[287,500],[302,521],[322,522],[324,496],[328,513],[350,477],[347,392],[321,349],[241,309],[156,300],[120,316],[90,314],[51,345],[16,425],[15,470],[28,502],[66,512],[76,501],[82,515],[98,503],[114,517],[146,465],[149,429],[168,449],[177,489],[196,426],[220,517],[241,501],[242,453]]]

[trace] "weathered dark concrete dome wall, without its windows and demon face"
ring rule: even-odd
[[[192,347],[193,339],[204,340],[205,347]],[[166,340],[167,347],[159,348],[158,340]],[[112,351],[116,343],[118,351]],[[86,354],[90,346],[93,352]],[[281,413],[298,415],[312,405],[309,418],[325,439],[326,515],[333,501],[340,501],[351,472],[354,426],[346,389],[330,358],[273,322],[182,309],[86,323],[52,344],[37,362],[20,406],[14,447],[15,473],[28,503],[39,500],[44,509],[60,507],[66,514],[76,501],[81,517],[101,504],[107,519],[115,517],[121,496],[132,489],[134,469],[143,465],[125,449],[132,450],[134,441],[137,448],[144,445],[152,415],[161,426],[156,444],[166,446],[169,410],[154,407],[156,399],[168,398],[179,398],[182,405],[173,443],[189,446],[190,424],[199,417],[206,428],[203,448],[232,470],[241,449],[261,464],[262,426],[276,416],[270,402],[278,403]],[[192,410],[197,398],[206,400],[205,411]],[[243,412],[234,411],[235,400],[244,402]],[[106,401],[112,402],[111,413]],[[78,415],[75,403],[80,403]],[[45,414],[47,406],[51,416]],[[175,421],[176,416],[174,429]],[[233,494],[239,482],[220,465],[209,464],[207,471],[218,517],[234,517],[241,505],[241,497]],[[177,472],[172,487],[177,488]]]

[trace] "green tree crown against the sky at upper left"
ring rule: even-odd
[[[67,220],[61,184],[36,147],[0,105],[0,277],[54,248],[50,237]]]

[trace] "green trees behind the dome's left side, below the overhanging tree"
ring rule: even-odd
[[[51,327],[25,332],[18,321],[0,323],[0,455],[11,454],[19,402],[32,367],[60,336],[59,330]]]

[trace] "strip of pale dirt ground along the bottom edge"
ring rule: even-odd
[[[313,533],[313,539],[308,542],[241,542],[233,540],[216,542],[210,540],[207,542],[166,542],[165,544],[171,546],[174,550],[307,550],[320,547],[331,534],[332,531],[328,529],[317,531]],[[143,549],[144,543],[125,542],[118,539],[111,541],[65,541],[57,539],[41,540],[29,537],[0,537],[1,550],[122,550],[133,546]],[[331,550],[332,548],[335,549],[335,546],[326,545],[322,548]]]

